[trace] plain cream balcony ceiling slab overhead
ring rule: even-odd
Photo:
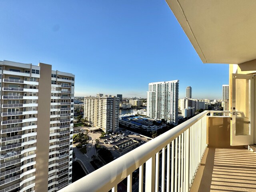
[[[166,0],[203,63],[256,59],[256,0]]]

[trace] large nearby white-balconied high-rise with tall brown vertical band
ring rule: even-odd
[[[57,191],[72,180],[74,75],[0,61],[0,191]]]

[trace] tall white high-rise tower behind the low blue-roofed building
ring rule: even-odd
[[[179,80],[148,84],[147,116],[178,124]]]

